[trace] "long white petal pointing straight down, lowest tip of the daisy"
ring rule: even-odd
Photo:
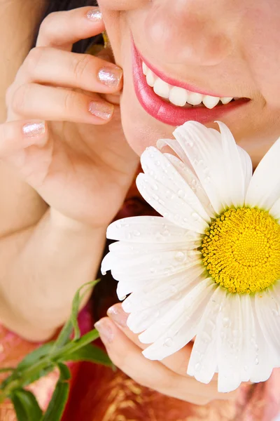
[[[242,320],[238,294],[228,293],[218,330],[218,392],[231,392],[241,384]]]

